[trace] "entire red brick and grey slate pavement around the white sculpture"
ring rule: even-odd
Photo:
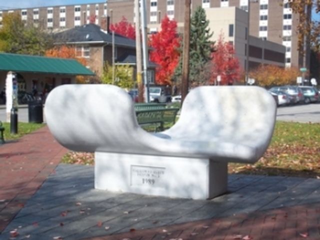
[[[0,146],[0,240],[320,239],[319,179],[232,174],[211,200],[108,192],[65,152],[47,127]]]

